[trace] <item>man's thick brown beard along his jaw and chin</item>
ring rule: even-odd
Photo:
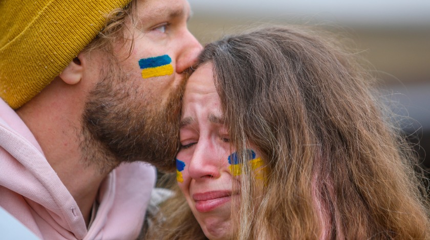
[[[158,95],[141,93],[143,86],[128,79],[117,64],[109,65],[103,67],[111,70],[101,74],[82,115],[80,148],[85,164],[100,173],[133,161],[172,170],[185,81],[162,104]]]

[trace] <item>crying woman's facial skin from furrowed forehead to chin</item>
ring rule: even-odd
[[[239,196],[232,189],[238,179],[229,170],[232,151],[222,119],[212,65],[207,63],[186,85],[177,159],[185,163],[179,187],[209,239],[231,239],[231,205]]]

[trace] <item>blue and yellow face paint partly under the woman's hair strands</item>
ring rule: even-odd
[[[255,173],[256,179],[264,179],[265,167],[264,161],[260,157],[256,158],[255,152],[251,149],[246,150],[248,156],[248,162],[251,166],[251,170]],[[242,165],[243,163],[239,163],[238,153],[234,152],[230,156],[228,156],[228,163],[230,164],[229,169],[233,176],[239,176],[242,174]]]

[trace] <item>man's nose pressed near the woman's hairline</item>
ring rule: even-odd
[[[203,49],[200,42],[188,30],[186,30],[184,36],[181,38],[180,44],[181,53],[176,63],[176,72],[179,74],[196,63],[197,57]]]

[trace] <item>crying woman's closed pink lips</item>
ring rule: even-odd
[[[208,212],[216,207],[228,202],[233,196],[231,191],[207,191],[205,193],[193,194],[192,198],[196,202],[196,210]]]

